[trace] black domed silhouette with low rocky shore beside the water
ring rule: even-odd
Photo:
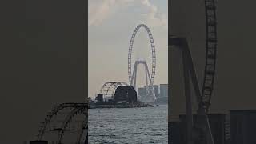
[[[133,86],[118,86],[112,99],[103,99],[103,94],[98,94],[96,101],[91,101],[89,108],[132,108],[152,106],[138,102],[137,92]]]

